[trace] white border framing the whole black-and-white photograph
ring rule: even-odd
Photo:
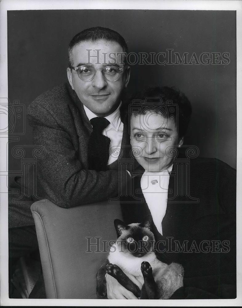
[[[242,2],[241,1],[189,1],[189,0],[2,0],[1,1],[1,68],[0,98],[8,97],[7,76],[7,11],[8,10],[92,10],[92,9],[145,9],[145,10],[236,10],[237,19],[237,298],[224,300],[143,300],[142,306],[241,306],[242,305]],[[8,116],[1,115],[4,127]],[[8,297],[8,136],[0,136],[0,274],[1,306],[139,306],[137,300],[88,300],[88,299],[14,299]]]

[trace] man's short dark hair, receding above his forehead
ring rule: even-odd
[[[123,60],[126,64],[127,61],[127,53],[128,53],[128,47],[127,44],[118,32],[111,30],[109,28],[104,27],[93,27],[89,29],[85,29],[78,34],[74,36],[74,38],[71,40],[68,48],[68,65],[71,67],[73,65],[73,59],[72,59],[72,49],[75,45],[79,44],[82,41],[91,41],[96,42],[98,40],[105,40],[109,42],[116,42],[118,43],[122,49],[123,49]]]

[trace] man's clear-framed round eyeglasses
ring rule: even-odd
[[[91,81],[96,75],[96,70],[101,70],[104,79],[113,82],[119,79],[120,74],[123,73],[127,67],[106,66],[103,68],[94,68],[92,66],[81,65],[78,67],[71,66],[70,68],[77,71],[78,77],[83,81]]]

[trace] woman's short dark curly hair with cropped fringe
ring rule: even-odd
[[[164,118],[173,117],[175,124],[178,123],[179,137],[181,138],[186,134],[192,114],[192,106],[184,93],[176,88],[148,87],[135,94],[131,98],[131,105],[126,113],[126,121],[131,119],[131,115],[142,115],[149,111],[161,114]]]

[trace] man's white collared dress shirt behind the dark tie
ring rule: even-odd
[[[121,106],[121,103],[119,107]],[[96,118],[97,115],[83,105],[84,110],[87,114],[88,120],[90,121],[93,118]],[[108,126],[103,130],[102,134],[110,138],[109,146],[109,159],[107,164],[112,164],[115,160],[118,159],[122,138],[123,138],[123,122],[120,119],[119,107],[111,113],[111,115],[106,116],[105,118],[110,122]]]

